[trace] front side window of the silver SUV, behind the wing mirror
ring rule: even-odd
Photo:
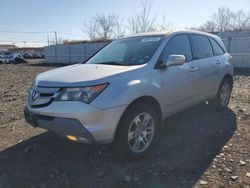
[[[167,61],[170,55],[184,55],[186,61],[192,60],[192,52],[187,35],[178,35],[170,39],[163,52],[163,60]]]

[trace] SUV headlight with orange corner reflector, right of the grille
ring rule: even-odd
[[[94,100],[108,84],[101,84],[88,87],[62,88],[60,94],[55,99],[57,101],[81,101],[90,103]]]

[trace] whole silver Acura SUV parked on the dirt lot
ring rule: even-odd
[[[137,34],[90,58],[37,76],[26,121],[69,140],[115,142],[133,157],[154,143],[164,118],[210,100],[226,108],[231,56],[219,37],[196,31]]]

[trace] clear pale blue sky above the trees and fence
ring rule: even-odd
[[[59,38],[86,39],[83,22],[96,13],[115,13],[124,19],[140,9],[141,0],[0,0],[0,43],[45,45],[53,33],[5,33],[1,31],[52,32]],[[152,0],[152,15],[165,16],[177,29],[198,26],[219,7],[250,10],[250,0]],[[6,43],[5,42],[5,43]]]

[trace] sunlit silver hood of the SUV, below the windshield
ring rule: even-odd
[[[109,77],[138,69],[141,66],[76,64],[39,74],[36,78],[36,85],[43,87],[63,87],[87,83],[95,84],[95,82],[108,81]]]

